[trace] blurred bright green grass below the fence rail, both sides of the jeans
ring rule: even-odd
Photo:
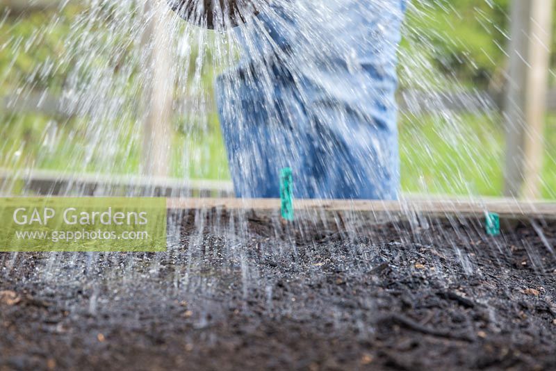
[[[2,167],[35,167],[73,172],[140,173],[141,143],[128,137],[117,153],[113,169],[101,170],[92,158],[87,169],[79,159],[85,154],[85,135],[68,123],[58,125],[56,143],[49,138],[52,122],[26,115],[3,126]],[[218,129],[218,117],[209,117],[208,129],[182,133],[173,138],[171,175],[190,179],[228,180],[227,155]],[[79,127],[79,125],[78,125]],[[129,133],[133,132],[130,126]],[[122,137],[124,138],[124,137]],[[125,140],[122,139],[122,140]],[[543,197],[556,199],[556,115],[547,118]],[[501,196],[504,135],[498,115],[425,115],[400,122],[402,190],[411,193]],[[102,156],[101,153],[97,156]]]

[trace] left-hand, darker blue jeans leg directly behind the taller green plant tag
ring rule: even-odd
[[[304,129],[308,119],[295,92],[282,86],[268,101],[259,82],[236,84],[237,100],[219,97],[219,107],[237,197],[279,198],[284,167],[293,170],[294,196],[314,197],[311,143]]]

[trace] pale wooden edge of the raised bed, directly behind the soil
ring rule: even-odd
[[[556,203],[543,201],[518,201],[516,199],[443,199],[404,197],[400,201],[371,200],[324,200],[298,199],[294,201],[297,211],[368,212],[425,215],[468,215],[480,216],[498,213],[503,218],[556,219]],[[195,210],[224,208],[238,211],[278,211],[279,199],[218,199],[186,198],[167,199],[167,208]]]

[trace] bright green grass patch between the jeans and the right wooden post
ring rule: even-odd
[[[402,119],[400,155],[404,192],[502,194],[504,146],[498,117]]]

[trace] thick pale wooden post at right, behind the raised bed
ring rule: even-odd
[[[553,0],[512,0],[505,97],[505,195],[538,198]]]

